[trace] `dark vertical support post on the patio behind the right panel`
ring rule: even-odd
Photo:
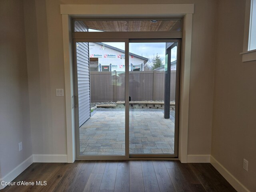
[[[167,66],[164,67],[164,118],[170,118],[170,81],[171,81],[171,49],[166,50]]]

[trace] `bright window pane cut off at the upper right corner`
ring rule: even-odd
[[[256,0],[251,0],[248,51],[256,49]]]

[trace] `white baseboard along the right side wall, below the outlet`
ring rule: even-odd
[[[210,163],[220,174],[235,188],[238,192],[250,192],[237,178],[235,178],[220,162],[213,156],[210,158]]]

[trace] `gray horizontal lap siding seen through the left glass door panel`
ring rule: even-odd
[[[79,127],[90,118],[90,72],[88,43],[76,43]]]

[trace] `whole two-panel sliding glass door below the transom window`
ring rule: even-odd
[[[74,40],[78,159],[178,156],[180,40]]]

